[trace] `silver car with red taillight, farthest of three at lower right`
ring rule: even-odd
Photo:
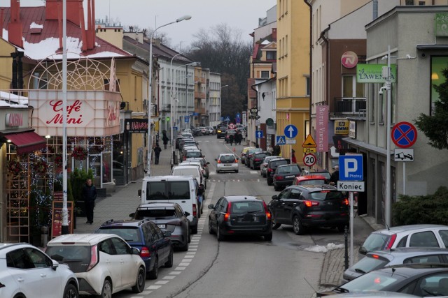
[[[383,251],[397,247],[448,247],[447,225],[398,225],[370,233],[358,252]]]

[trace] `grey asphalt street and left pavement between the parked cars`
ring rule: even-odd
[[[218,242],[216,235],[208,231],[207,205],[216,203],[223,195],[241,194],[257,195],[267,203],[278,192],[273,186],[267,186],[266,179],[258,170],[250,170],[241,163],[238,174],[216,174],[216,156],[234,152],[234,148],[239,156],[244,144],[230,147],[223,139],[217,140],[215,135],[195,139],[210,162],[204,213],[199,220],[198,233],[192,235],[187,252],[174,253],[172,268],[162,267],[157,280],[146,280],[144,292],[136,295],[128,290],[113,297],[311,297],[322,288],[321,284],[327,283],[322,281],[325,251],[328,247],[340,251],[344,233],[321,228],[297,236],[291,226],[283,225],[274,230],[272,241],[264,241],[262,237],[235,237]],[[170,152],[170,147],[162,151],[160,165],[153,165],[154,174],[169,172]],[[116,195],[125,195],[126,188],[137,189],[139,185],[130,184]],[[112,197],[115,199],[116,195]],[[139,204],[137,191],[130,195],[132,198],[118,200],[127,200],[129,204],[123,208],[116,207],[118,210],[114,210],[113,215],[117,216],[116,219],[127,218],[129,211]],[[102,207],[108,208],[108,200],[111,198],[97,204],[96,218],[105,211]],[[111,211],[106,213],[105,216],[110,218]],[[357,246],[372,229],[360,218],[356,218],[355,224],[353,242]],[[82,231],[83,228],[77,230]],[[339,261],[340,264],[344,262]],[[342,276],[342,271],[337,276]]]

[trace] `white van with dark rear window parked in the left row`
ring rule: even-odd
[[[151,202],[177,203],[183,211],[190,215],[191,233],[197,233],[197,218],[200,217],[199,209],[199,184],[191,176],[155,176],[145,177],[139,189],[141,204]]]

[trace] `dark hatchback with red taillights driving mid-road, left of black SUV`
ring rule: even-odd
[[[218,241],[230,235],[260,235],[272,240],[271,214],[265,201],[252,195],[228,195],[209,204],[209,233]]]

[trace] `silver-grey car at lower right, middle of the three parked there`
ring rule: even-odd
[[[387,251],[372,251],[344,271],[342,282],[346,283],[367,272],[388,266],[421,263],[448,264],[448,250],[432,247],[401,247]]]

